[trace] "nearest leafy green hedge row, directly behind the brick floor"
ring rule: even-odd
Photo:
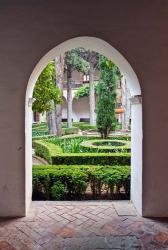
[[[130,193],[129,166],[33,166],[33,199],[60,200],[81,198],[91,190],[93,197],[102,192],[114,198],[121,190]]]

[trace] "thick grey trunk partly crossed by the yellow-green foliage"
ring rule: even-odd
[[[64,58],[57,56],[55,58],[56,85],[63,92],[63,73],[64,73]],[[57,104],[55,107],[55,118],[57,135],[62,135],[62,105]]]

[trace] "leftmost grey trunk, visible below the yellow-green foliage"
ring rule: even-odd
[[[54,102],[52,102],[52,110],[46,113],[48,132],[50,135],[57,135],[54,110],[55,110]]]

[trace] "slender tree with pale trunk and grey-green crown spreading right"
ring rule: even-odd
[[[65,70],[67,74],[67,124],[72,127],[72,72],[77,70],[86,74],[89,64],[78,53],[78,49],[73,49],[65,53]]]

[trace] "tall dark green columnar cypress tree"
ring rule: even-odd
[[[97,101],[97,128],[103,139],[106,139],[110,130],[115,129],[115,105],[117,67],[104,56],[99,59],[100,79],[98,83]]]

